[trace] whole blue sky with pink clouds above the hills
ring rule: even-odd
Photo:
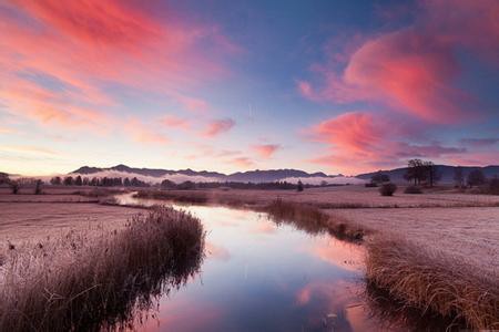
[[[499,2],[0,0],[0,170],[499,164]]]

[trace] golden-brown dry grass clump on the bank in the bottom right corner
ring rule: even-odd
[[[499,328],[497,276],[479,273],[401,239],[367,243],[368,282],[384,289],[409,308],[436,312],[473,329]]]

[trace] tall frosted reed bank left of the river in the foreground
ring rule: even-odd
[[[10,248],[0,271],[0,330],[125,325],[195,273],[203,248],[200,220],[172,208],[139,215],[121,231]]]

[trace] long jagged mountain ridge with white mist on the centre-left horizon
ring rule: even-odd
[[[223,174],[217,172],[207,170],[193,170],[193,169],[161,169],[161,168],[135,168],[129,167],[126,165],[116,165],[109,168],[101,167],[89,167],[83,166],[79,169],[71,172],[72,174],[81,175],[92,175],[92,174],[103,174],[103,173],[128,173],[130,176],[145,176],[145,177],[169,177],[169,176],[186,176],[186,177],[200,177],[206,178],[206,180],[221,180],[221,181],[240,181],[240,183],[267,183],[267,181],[278,181],[286,178],[334,178],[336,176],[326,175],[322,172],[317,173],[306,173],[299,169],[268,169],[268,170],[248,170],[248,172],[237,172],[233,174]]]

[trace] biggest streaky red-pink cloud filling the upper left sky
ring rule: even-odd
[[[10,113],[41,125],[109,117],[120,101],[102,87],[106,84],[173,98],[186,111],[206,110],[207,103],[189,92],[224,77],[228,70],[222,58],[233,50],[221,50],[235,48],[220,29],[160,20],[136,2],[21,0],[6,7],[0,80],[10,84],[0,100]],[[29,80],[19,72],[53,77],[63,89],[20,101],[13,91],[26,89]]]

